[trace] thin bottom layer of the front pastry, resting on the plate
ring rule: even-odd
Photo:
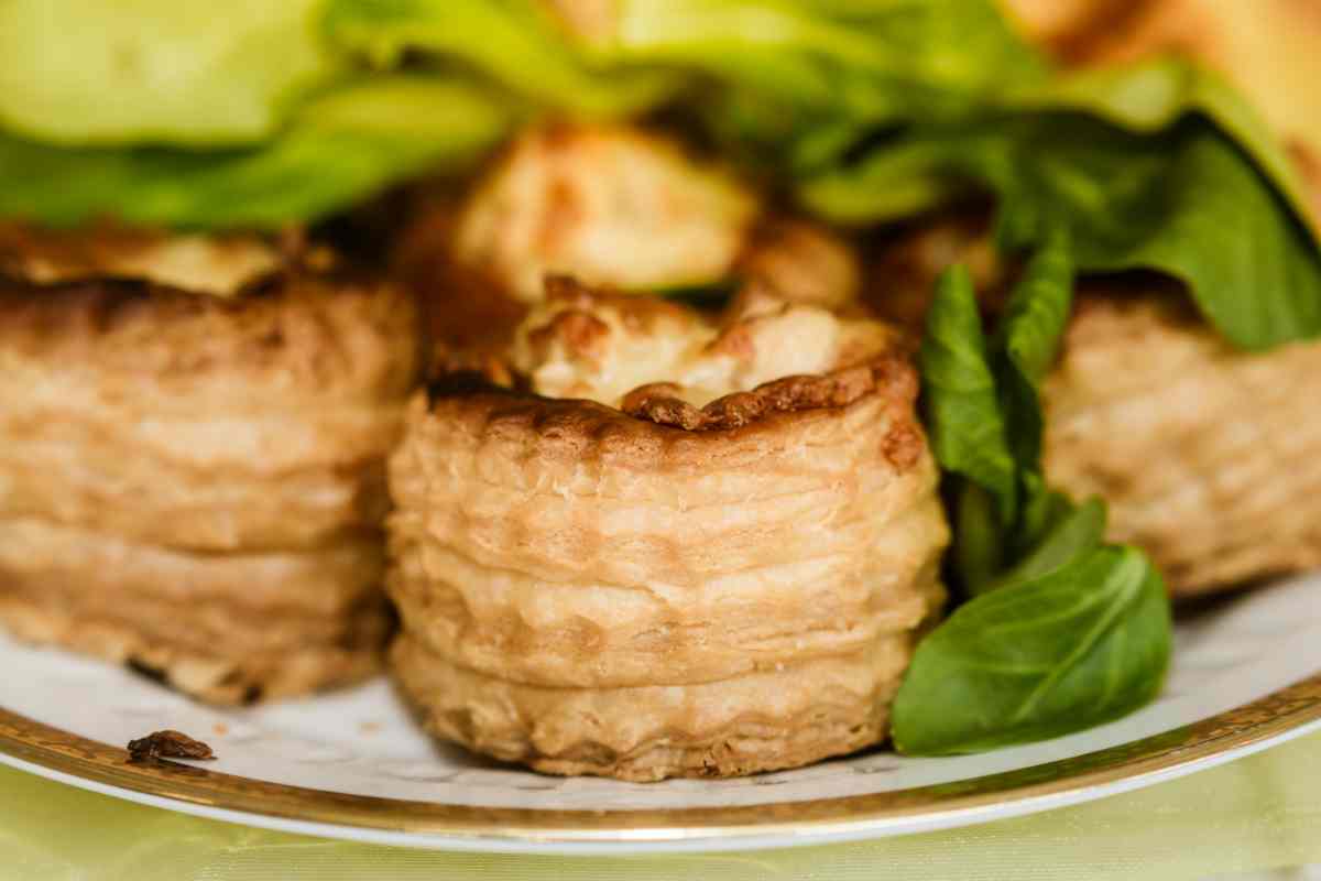
[[[885,736],[911,634],[711,683],[546,688],[452,664],[410,635],[395,675],[427,728],[548,774],[626,781],[798,767]]]

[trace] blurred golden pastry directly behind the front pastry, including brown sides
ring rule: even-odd
[[[848,242],[765,203],[731,169],[654,131],[524,131],[462,198],[429,194],[395,251],[437,338],[503,345],[548,275],[624,293],[732,288],[839,308],[856,299]]]

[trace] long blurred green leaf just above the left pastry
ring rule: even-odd
[[[513,108],[482,88],[390,77],[328,92],[283,135],[250,149],[59,149],[0,133],[0,215],[277,227],[359,201],[400,176],[469,166],[513,120]]]

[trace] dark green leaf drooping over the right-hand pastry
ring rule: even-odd
[[[1001,198],[1001,235],[1069,222],[1085,271],[1149,268],[1188,284],[1230,342],[1321,334],[1321,251],[1248,157],[1205,120],[1139,137],[1095,120],[1036,119],[1004,153],[971,157]]]

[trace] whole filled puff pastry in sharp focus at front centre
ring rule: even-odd
[[[947,543],[897,334],[550,287],[514,388],[443,376],[390,460],[392,662],[427,726],[638,781],[884,738]]]

